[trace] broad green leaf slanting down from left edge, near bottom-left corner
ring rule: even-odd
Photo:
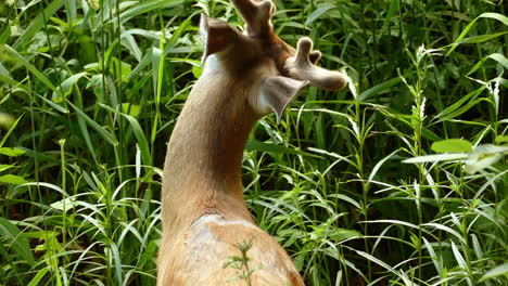
[[[5,240],[10,243],[14,253],[16,253],[21,259],[28,262],[30,265],[35,264],[34,255],[28,239],[26,239],[16,225],[2,217],[0,217],[0,236],[7,238]]]

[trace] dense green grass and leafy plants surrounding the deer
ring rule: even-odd
[[[506,3],[275,2],[278,34],[351,78],[244,153],[249,208],[307,285],[508,285]],[[0,285],[154,285],[202,12],[241,26],[228,1],[0,3]]]

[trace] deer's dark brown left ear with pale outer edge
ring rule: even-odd
[[[201,14],[200,32],[205,42],[203,62],[211,54],[224,51],[238,38],[238,31],[228,23]]]

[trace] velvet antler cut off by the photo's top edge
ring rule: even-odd
[[[271,15],[276,6],[271,0],[231,0],[231,2],[245,21],[250,37],[266,37],[272,32]]]

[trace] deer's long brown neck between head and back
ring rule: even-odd
[[[247,96],[237,94],[250,92],[250,83],[232,80],[234,75],[224,69],[216,73],[216,64],[207,64],[169,140],[162,200],[164,222],[170,229],[185,227],[207,212],[251,220],[241,164],[256,116],[244,100]]]

